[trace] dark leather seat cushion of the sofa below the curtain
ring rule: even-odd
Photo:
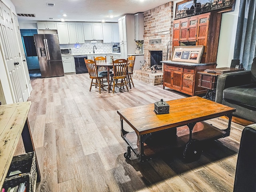
[[[226,88],[223,99],[256,107],[256,83]]]

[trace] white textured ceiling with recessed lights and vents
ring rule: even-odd
[[[118,22],[124,14],[135,14],[150,10],[170,0],[11,0],[16,13],[35,14],[36,17],[21,17],[26,21],[80,21]],[[54,3],[55,6],[47,6]],[[62,14],[67,14],[66,17]],[[113,15],[113,18],[109,16]],[[49,19],[53,18],[53,19]]]

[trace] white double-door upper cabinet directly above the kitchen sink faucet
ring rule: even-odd
[[[102,23],[83,23],[84,40],[103,40]]]

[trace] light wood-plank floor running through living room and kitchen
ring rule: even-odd
[[[140,163],[120,136],[118,109],[185,97],[134,80],[129,92],[92,87],[88,74],[34,78],[28,120],[41,171],[37,192],[232,192],[244,126],[232,122],[229,137],[204,145],[196,162],[178,148]],[[210,123],[226,128],[227,120]],[[126,130],[131,130],[124,123]],[[178,129],[178,135],[188,130]],[[22,142],[16,154],[23,153]]]

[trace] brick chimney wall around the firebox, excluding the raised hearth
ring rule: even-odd
[[[144,59],[150,66],[150,52],[162,51],[163,59],[170,60],[172,53],[173,2],[160,5],[144,12]],[[161,39],[161,44],[149,44],[149,40]],[[168,41],[169,52],[166,59]]]

